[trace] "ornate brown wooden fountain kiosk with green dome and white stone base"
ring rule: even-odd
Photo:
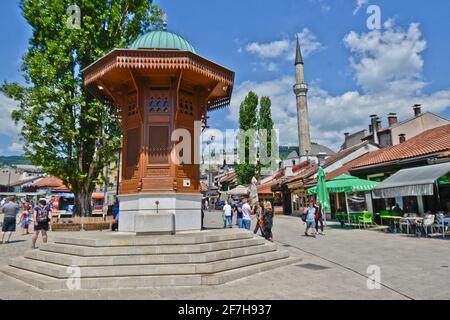
[[[84,76],[96,98],[116,106],[123,129],[119,230],[200,230],[201,127],[208,111],[229,104],[234,72],[164,30],[145,34],[130,49],[111,51]],[[191,133],[191,164],[173,161],[176,129]]]

